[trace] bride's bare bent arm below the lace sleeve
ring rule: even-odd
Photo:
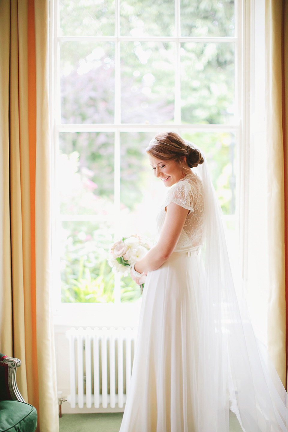
[[[168,260],[177,245],[188,213],[189,210],[178,204],[168,204],[159,240],[144,258],[136,262],[134,267],[136,271],[143,273],[156,270]]]

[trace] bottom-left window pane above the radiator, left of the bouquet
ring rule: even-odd
[[[103,215],[96,222],[62,222],[62,302],[114,302],[114,274],[107,261],[112,235]]]

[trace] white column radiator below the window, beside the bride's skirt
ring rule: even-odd
[[[71,408],[123,408],[129,391],[137,329],[72,327],[70,350]]]

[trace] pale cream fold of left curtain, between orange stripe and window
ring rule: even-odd
[[[36,52],[36,164],[35,164],[35,277],[37,358],[41,431],[59,427],[55,413],[56,363],[51,310],[51,139],[49,116],[49,1],[35,1]],[[41,341],[41,343],[39,343]],[[53,378],[53,379],[52,379]],[[54,413],[54,416],[51,414]],[[49,425],[49,429],[46,427]]]

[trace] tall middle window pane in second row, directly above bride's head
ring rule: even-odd
[[[168,42],[121,43],[122,123],[174,119],[174,54]]]

